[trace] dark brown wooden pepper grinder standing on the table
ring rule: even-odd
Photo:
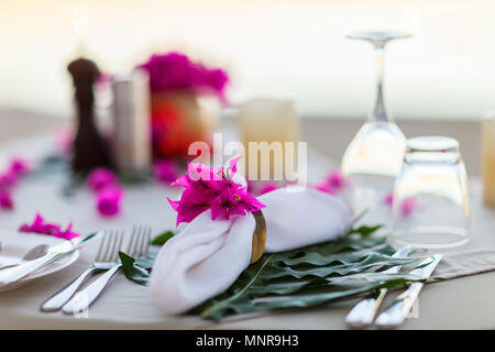
[[[74,139],[73,170],[88,173],[95,167],[112,167],[107,145],[95,123],[95,85],[100,72],[86,58],[78,58],[67,66],[76,89],[78,130]]]

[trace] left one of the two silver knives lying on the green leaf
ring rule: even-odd
[[[403,258],[409,254],[410,246],[394,253],[392,257]],[[402,265],[393,266],[382,274],[397,274]],[[364,329],[373,322],[383,298],[387,294],[387,288],[382,288],[377,297],[369,297],[358,302],[345,317],[345,323],[352,329]]]

